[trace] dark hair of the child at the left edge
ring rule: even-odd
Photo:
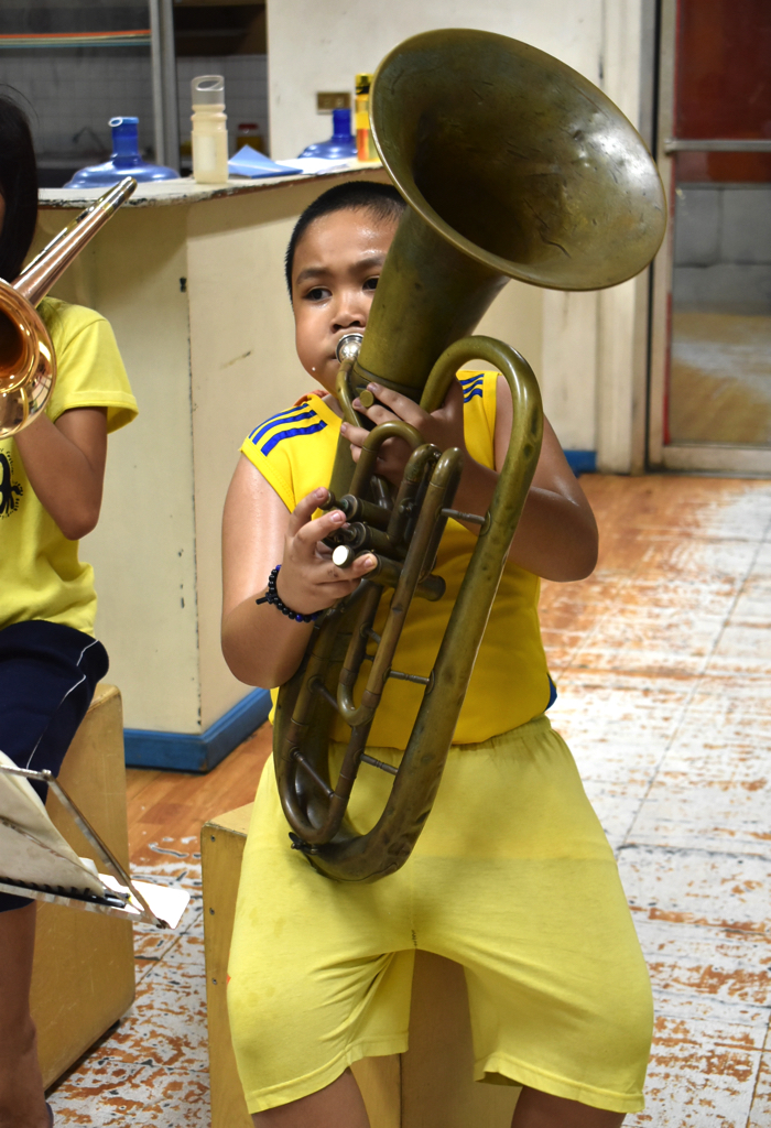
[[[27,116],[0,94],[0,195],[6,219],[0,232],[0,277],[12,282],[32,246],[37,222],[37,162]]]

